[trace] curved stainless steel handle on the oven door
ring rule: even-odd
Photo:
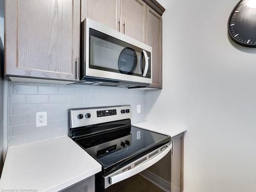
[[[155,164],[156,162],[158,162],[160,159],[162,159],[171,149],[172,149],[172,142],[167,143],[166,148],[163,152],[161,152],[160,154],[156,155],[154,158],[141,163],[139,165],[137,165],[136,167],[130,169],[130,170],[126,170],[123,173],[117,174],[117,175],[113,175],[113,176],[109,176],[109,184],[113,185],[119,181],[122,181],[124,179],[127,179],[129,177],[132,177],[140,172],[142,172],[143,170],[145,170],[146,168],[152,166],[153,164]],[[161,147],[162,148],[162,147]],[[110,186],[109,185],[109,186]],[[108,186],[105,186],[105,188]]]

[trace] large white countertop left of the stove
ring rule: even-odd
[[[71,138],[59,137],[9,147],[0,190],[59,191],[100,171],[101,165]]]

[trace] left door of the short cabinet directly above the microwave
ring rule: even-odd
[[[119,31],[120,0],[81,0],[81,22],[86,17]]]

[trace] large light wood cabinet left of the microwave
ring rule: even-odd
[[[80,1],[6,0],[6,75],[78,80]]]

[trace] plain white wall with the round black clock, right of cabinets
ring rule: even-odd
[[[256,49],[231,42],[238,0],[159,0],[163,90],[147,91],[147,118],[188,127],[186,192],[256,191]]]

